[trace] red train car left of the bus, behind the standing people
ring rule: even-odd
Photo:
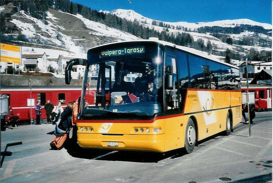
[[[76,101],[81,96],[81,89],[82,86],[32,86],[31,98],[34,99],[35,105],[37,100],[41,101],[42,108],[44,108],[47,100],[50,100],[54,106],[60,101],[64,109],[68,102]],[[28,106],[28,99],[30,99],[29,87],[2,86],[1,94],[9,96],[9,107],[12,107],[14,113],[20,117],[20,121],[30,121],[31,118],[36,119],[35,106],[32,106],[32,113],[30,113],[30,106]],[[46,118],[46,110],[43,109],[41,119]]]

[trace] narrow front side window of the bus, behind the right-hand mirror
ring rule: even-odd
[[[166,110],[172,111],[172,110],[178,110],[179,104],[178,104],[178,93],[177,93],[177,66],[176,66],[176,55],[172,53],[166,52],[166,66],[172,66],[172,75],[173,75],[173,89],[172,90],[166,90]]]

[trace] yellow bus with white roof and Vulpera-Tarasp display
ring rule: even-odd
[[[89,49],[87,60],[66,66],[66,84],[75,65],[86,66],[77,116],[80,147],[184,147],[191,153],[198,141],[229,135],[241,121],[239,68],[213,55],[150,38]]]

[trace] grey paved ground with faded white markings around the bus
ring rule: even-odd
[[[53,125],[25,125],[2,132],[12,156],[0,168],[4,182],[272,182],[272,113],[256,113],[249,137],[240,123],[229,136],[206,139],[193,153],[164,156],[133,151],[50,149]],[[45,121],[44,121],[45,122]]]

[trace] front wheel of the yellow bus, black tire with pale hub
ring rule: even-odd
[[[196,131],[195,131],[195,126],[190,118],[188,120],[187,126],[186,126],[186,131],[185,131],[185,150],[187,154],[190,154],[195,147],[196,143]]]

